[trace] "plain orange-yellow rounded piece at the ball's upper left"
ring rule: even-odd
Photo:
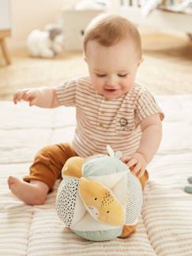
[[[66,160],[62,168],[62,177],[64,175],[69,175],[77,178],[82,176],[82,165],[84,164],[85,159],[80,156],[73,156]]]

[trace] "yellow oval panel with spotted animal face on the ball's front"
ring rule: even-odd
[[[78,193],[88,213],[96,219],[120,226],[125,223],[125,213],[115,194],[103,184],[82,177],[79,180]]]

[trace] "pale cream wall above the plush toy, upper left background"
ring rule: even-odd
[[[28,33],[34,28],[58,20],[62,8],[69,9],[78,0],[12,0],[12,36],[7,39],[9,49],[15,51],[25,46]]]

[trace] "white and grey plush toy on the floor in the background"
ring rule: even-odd
[[[57,24],[49,24],[43,31],[34,29],[28,35],[28,51],[33,57],[53,58],[62,52],[63,41],[62,28]]]

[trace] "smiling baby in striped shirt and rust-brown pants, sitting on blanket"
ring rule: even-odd
[[[77,111],[72,143],[37,152],[24,181],[9,177],[9,189],[28,205],[44,204],[71,156],[105,154],[111,145],[142,179],[160,145],[164,114],[149,90],[135,82],[142,55],[134,24],[116,15],[96,17],[85,32],[84,54],[89,77],[75,77],[55,88],[18,90],[13,96],[14,104],[25,100],[29,106],[73,106]]]

